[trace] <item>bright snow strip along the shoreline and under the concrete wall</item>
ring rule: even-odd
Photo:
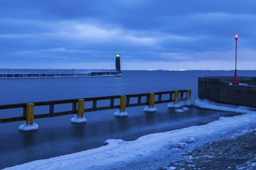
[[[219,120],[215,120],[206,125],[191,126],[180,130],[145,135],[134,141],[124,141],[120,139],[106,140],[106,146],[60,157],[28,162],[26,164],[6,168],[6,170],[114,169],[117,164],[137,162],[139,159],[146,159],[147,157],[160,159],[161,157],[159,157],[159,155],[161,156],[161,154],[164,153],[163,150],[166,150],[171,144],[193,145],[195,141],[216,139],[220,135],[225,135],[234,130],[240,130],[245,125],[255,125],[256,123],[256,111],[252,111],[250,108],[215,104],[211,101],[200,99],[195,101],[195,105],[203,108],[235,111],[246,114],[227,118],[221,117]],[[169,167],[169,169],[175,168],[174,166]]]

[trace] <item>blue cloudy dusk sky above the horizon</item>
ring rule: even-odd
[[[255,0],[1,0],[0,68],[256,69]]]

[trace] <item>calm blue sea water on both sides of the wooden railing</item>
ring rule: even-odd
[[[238,71],[238,76],[255,75],[255,71]],[[233,76],[233,72],[124,71],[122,77],[0,79],[0,104],[182,89],[191,89],[193,98],[196,98],[197,78],[205,76]],[[107,139],[136,140],[152,132],[203,125],[218,120],[220,116],[235,115],[194,107],[176,113],[174,109],[166,108],[166,103],[156,105],[157,113],[144,113],[143,108],[127,108],[127,118],[115,118],[115,110],[85,113],[87,123],[82,125],[70,123],[73,115],[37,119],[39,130],[33,132],[19,132],[18,126],[23,122],[1,123],[0,169],[100,147]],[[35,111],[40,110],[43,108],[35,108]],[[1,114],[6,113],[1,111]]]

